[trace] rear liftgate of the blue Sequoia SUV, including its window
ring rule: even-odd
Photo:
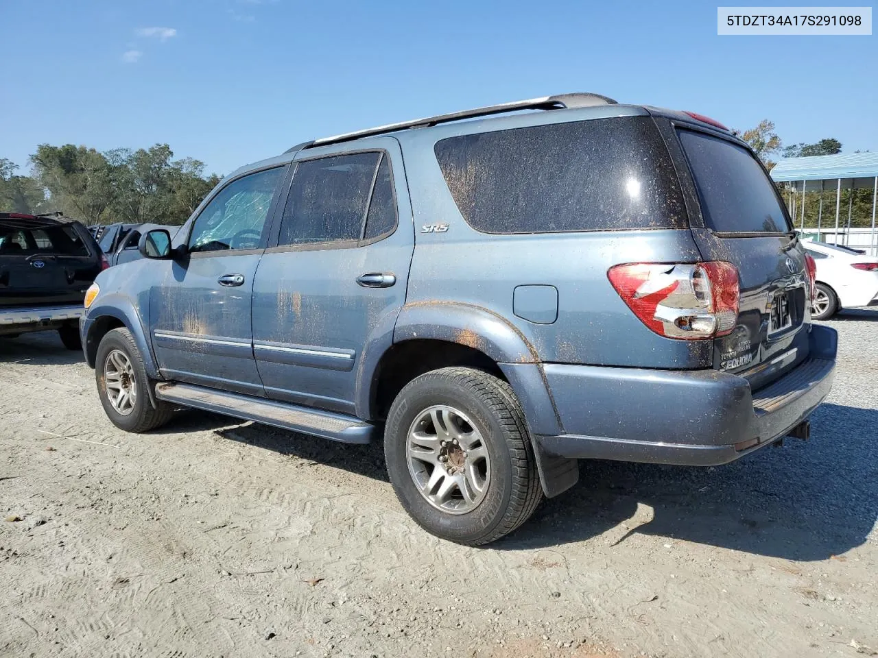
[[[715,341],[714,368],[758,389],[808,356],[804,249],[774,182],[752,152],[722,133],[677,125],[681,183],[706,261],[738,267],[738,325]]]

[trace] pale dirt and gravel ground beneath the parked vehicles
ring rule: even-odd
[[[0,341],[0,655],[875,654],[878,311],[829,324],[810,442],[581,463],[483,548],[415,526],[377,445],[200,412],[122,433],[54,334]]]

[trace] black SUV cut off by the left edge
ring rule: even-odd
[[[0,212],[0,336],[54,329],[81,349],[85,291],[106,266],[79,222]]]

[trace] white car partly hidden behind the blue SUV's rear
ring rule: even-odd
[[[817,264],[817,294],[811,318],[824,320],[839,309],[878,303],[878,258],[850,247],[803,240]]]

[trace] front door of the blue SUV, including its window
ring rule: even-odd
[[[284,169],[227,183],[195,218],[189,253],[155,261],[165,272],[150,290],[151,333],[168,379],[263,395],[250,308],[266,220]]]

